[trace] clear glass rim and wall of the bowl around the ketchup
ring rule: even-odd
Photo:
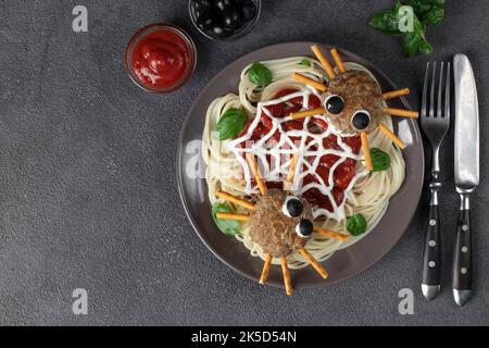
[[[133,52],[135,48],[138,46],[139,41],[146,37],[147,35],[158,32],[158,30],[170,30],[178,35],[184,42],[187,45],[188,51],[190,52],[190,64],[187,67],[186,72],[181,77],[175,82],[174,85],[164,87],[164,88],[154,88],[151,86],[146,85],[143,82],[139,79],[139,77],[136,75],[136,73],[133,70]],[[148,26],[145,26],[143,28],[136,32],[136,34],[133,35],[129,42],[127,44],[126,51],[124,53],[124,65],[126,67],[127,75],[129,75],[130,79],[140,88],[145,89],[146,91],[154,92],[154,94],[165,94],[170,91],[174,91],[178,88],[180,88],[192,75],[196,70],[197,65],[197,49],[196,45],[193,44],[193,40],[191,37],[184,32],[181,28],[177,27],[174,24],[171,23],[155,23],[150,24]]]

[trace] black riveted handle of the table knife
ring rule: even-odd
[[[472,290],[472,226],[469,198],[467,194],[461,194],[461,207],[459,211],[459,222],[456,225],[455,249],[453,251],[454,291],[464,291],[467,294],[467,296],[469,296],[469,291]],[[463,306],[464,303],[462,303],[461,306]]]

